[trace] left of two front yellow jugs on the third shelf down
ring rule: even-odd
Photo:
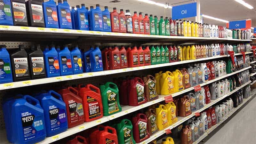
[[[166,71],[165,73],[162,73],[162,76],[160,77],[160,93],[162,95],[174,93],[175,89],[173,82],[174,76],[172,72]]]

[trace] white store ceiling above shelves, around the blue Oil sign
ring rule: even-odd
[[[44,0],[48,1],[48,0]],[[57,2],[57,0],[55,0]],[[86,7],[91,5],[95,7],[95,4],[100,4],[101,10],[104,10],[104,6],[108,6],[109,11],[112,11],[113,7],[127,10],[132,12],[143,12],[148,14],[160,16],[172,17],[171,9],[164,9],[163,7],[139,2],[137,0],[118,0],[120,3],[109,3],[112,0],[68,0],[70,6],[85,4]],[[188,0],[152,0],[158,3],[169,3],[169,5],[180,5],[191,3],[186,2]],[[194,0],[195,1],[195,0]],[[246,3],[252,5],[254,10],[250,10],[242,4],[237,3],[234,0],[201,0],[201,14],[212,16],[223,20],[243,20],[252,19],[252,26],[256,27],[256,0],[244,0]],[[182,3],[180,3],[182,2]],[[184,3],[185,2],[185,3]],[[177,4],[180,3],[180,4]],[[195,18],[189,18],[189,20],[195,21]],[[226,24],[220,21],[210,20],[203,18],[203,23],[215,24],[225,26]]]

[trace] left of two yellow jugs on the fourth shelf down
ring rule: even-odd
[[[163,130],[170,125],[167,115],[168,111],[164,105],[156,105],[156,125],[159,130]]]

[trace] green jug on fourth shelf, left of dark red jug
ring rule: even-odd
[[[116,124],[116,132],[118,143],[135,144],[132,133],[132,122],[128,119],[123,119],[120,123]]]

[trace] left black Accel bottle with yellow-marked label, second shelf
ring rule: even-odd
[[[30,79],[28,68],[28,54],[24,45],[19,45],[19,51],[11,54],[13,81],[25,81]]]

